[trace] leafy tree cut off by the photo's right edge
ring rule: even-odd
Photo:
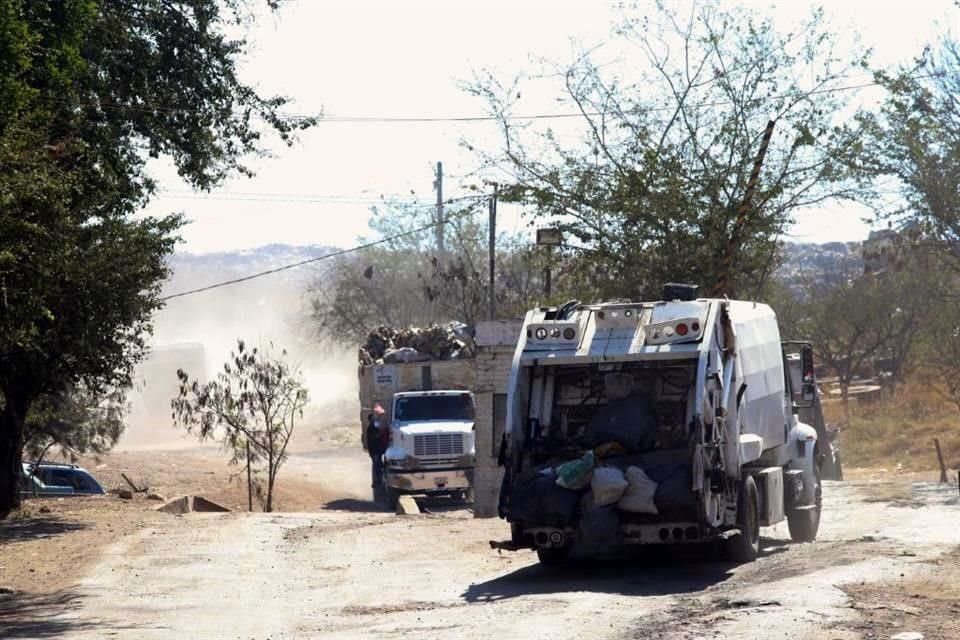
[[[901,197],[886,202],[879,217],[907,228],[905,253],[923,258],[936,279],[920,365],[960,407],[960,43],[944,37],[913,64],[877,78],[888,93],[870,120],[877,153],[865,165],[894,179]]]

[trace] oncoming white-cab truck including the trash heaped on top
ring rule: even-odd
[[[416,346],[411,346],[416,345]],[[475,466],[476,371],[462,325],[381,327],[360,351],[361,439],[371,415],[389,429],[374,497],[388,508],[400,495],[471,499]]]

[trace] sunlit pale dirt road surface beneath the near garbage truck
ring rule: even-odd
[[[550,570],[491,551],[502,521],[394,516],[359,497],[169,516],[116,540],[56,599],[23,602],[0,636],[960,638],[960,592],[936,587],[960,576],[956,486],[855,481],[824,495],[817,542],[767,529],[761,559],[740,567],[658,553]]]

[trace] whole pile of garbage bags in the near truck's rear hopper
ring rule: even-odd
[[[687,448],[656,448],[652,402],[639,395],[611,400],[593,415],[566,456],[537,465],[513,483],[511,520],[576,529],[579,553],[623,544],[621,524],[652,516],[689,520],[696,508]],[[566,458],[564,460],[564,458]]]

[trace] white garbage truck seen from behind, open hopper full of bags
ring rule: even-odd
[[[720,541],[747,562],[760,527],[813,540],[821,455],[792,397],[764,304],[671,284],[656,302],[530,311],[500,445],[511,537],[491,545],[553,564]]]

